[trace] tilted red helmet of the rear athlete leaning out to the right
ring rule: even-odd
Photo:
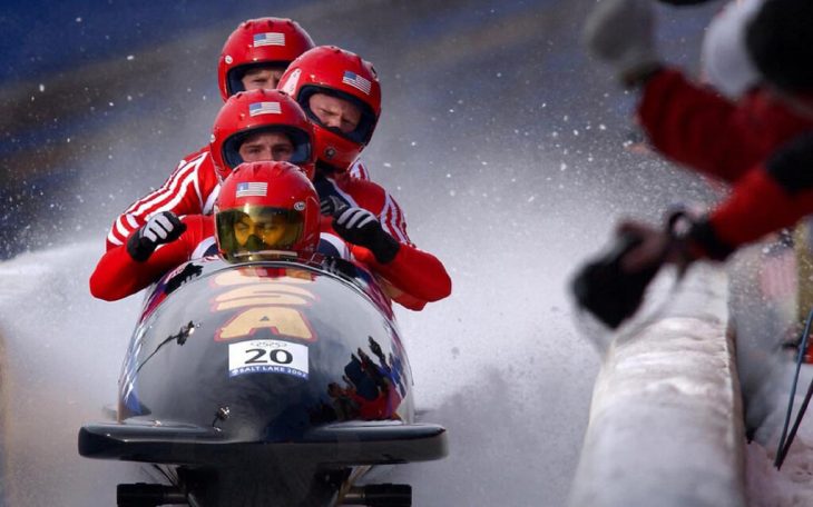
[[[381,86],[372,63],[335,46],[320,46],[291,63],[278,88],[296,99],[314,122],[314,151],[319,162],[334,170],[346,170],[370,142],[381,116]],[[322,123],[310,107],[314,93],[355,105],[361,110],[355,130],[343,133]]]

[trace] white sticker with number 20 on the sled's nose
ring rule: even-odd
[[[280,340],[248,340],[228,346],[228,376],[285,374],[307,379],[307,347]]]

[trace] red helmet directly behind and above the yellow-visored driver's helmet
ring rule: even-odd
[[[286,135],[293,145],[293,153],[286,161],[300,166],[308,178],[313,178],[313,125],[305,112],[282,91],[252,90],[229,97],[212,128],[209,150],[221,180],[243,163],[239,155],[243,141],[259,132]]]

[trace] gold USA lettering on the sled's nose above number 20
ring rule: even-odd
[[[237,310],[215,332],[215,340],[225,341],[267,330],[274,338],[285,336],[305,341],[316,339],[307,319],[296,307],[307,307],[315,299],[303,285],[311,280],[238,276],[234,271],[215,278],[215,285],[227,287],[212,300],[214,311]]]

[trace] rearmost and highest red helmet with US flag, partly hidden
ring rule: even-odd
[[[287,18],[257,18],[243,21],[228,36],[217,63],[217,83],[225,101],[244,91],[243,76],[252,67],[286,68],[313,48],[313,40],[296,21]]]

